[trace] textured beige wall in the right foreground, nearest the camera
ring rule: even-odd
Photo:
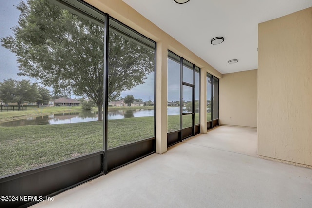
[[[258,31],[258,154],[311,166],[312,7]]]

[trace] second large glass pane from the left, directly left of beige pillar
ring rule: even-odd
[[[114,148],[154,137],[155,47],[113,19],[110,26],[107,137]]]

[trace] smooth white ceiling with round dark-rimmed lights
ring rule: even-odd
[[[123,1],[222,74],[258,68],[258,23],[312,6],[312,0]],[[224,42],[212,45],[217,36]]]

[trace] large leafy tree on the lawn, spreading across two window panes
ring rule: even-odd
[[[17,55],[20,76],[35,77],[55,91],[87,95],[102,120],[104,24],[84,19],[47,0],[20,1],[13,36],[2,46]],[[144,83],[154,70],[154,51],[110,30],[110,100]]]

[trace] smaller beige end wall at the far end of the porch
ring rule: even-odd
[[[219,123],[257,127],[257,70],[223,74],[219,80]]]

